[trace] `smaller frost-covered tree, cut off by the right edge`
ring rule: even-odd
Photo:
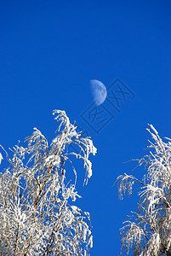
[[[163,142],[150,127],[154,143],[149,141],[150,153],[138,162],[146,170],[142,181],[126,173],[117,177],[121,199],[132,194],[134,183],[140,185],[138,210],[121,229],[122,253],[134,256],[171,255],[171,140]]]

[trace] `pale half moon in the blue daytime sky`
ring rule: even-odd
[[[105,102],[107,96],[107,90],[105,84],[101,83],[99,80],[92,79],[90,80],[90,88],[94,96],[94,102],[97,106],[100,106]]]

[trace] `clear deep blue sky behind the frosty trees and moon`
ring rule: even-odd
[[[91,255],[117,255],[119,228],[136,210],[137,190],[119,201],[111,186],[123,172],[145,173],[123,162],[146,153],[148,123],[171,137],[171,2],[6,0],[0,24],[0,143],[23,142],[35,126],[52,139],[53,109],[76,120],[98,148],[88,186],[78,183],[77,203],[92,218]],[[96,124],[99,133],[83,119],[94,103],[90,79],[115,91],[119,79],[130,92],[120,112],[108,100],[100,106],[113,118],[103,128]]]

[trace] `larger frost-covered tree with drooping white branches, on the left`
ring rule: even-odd
[[[26,148],[14,146],[11,157],[4,149],[9,166],[0,173],[0,255],[85,256],[92,247],[89,213],[73,204],[81,197],[73,158],[83,160],[87,184],[92,175],[88,155],[96,148],[65,111],[53,113],[60,125],[50,145],[34,128]],[[76,147],[77,153],[69,150]],[[66,179],[71,170],[73,182]]]

